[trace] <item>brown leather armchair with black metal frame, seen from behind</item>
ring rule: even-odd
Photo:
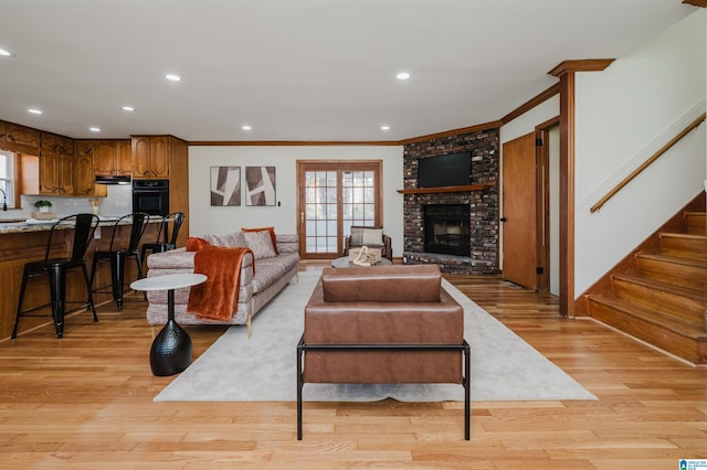
[[[297,344],[298,440],[305,383],[461,384],[469,439],[464,309],[442,286],[439,266],[324,268],[304,317]]]

